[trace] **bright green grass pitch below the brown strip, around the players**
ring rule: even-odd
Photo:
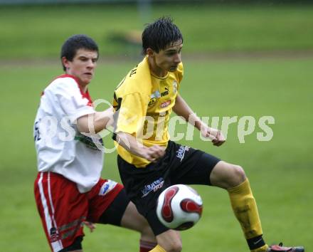
[[[223,147],[212,147],[198,137],[186,143],[243,165],[258,199],[267,241],[301,243],[308,251],[313,248],[313,158],[309,140],[312,63],[307,59],[187,61],[181,86],[181,94],[198,115],[275,117],[270,142],[258,142],[255,132],[245,138],[245,144],[240,144],[233,125]],[[90,86],[93,97],[111,100],[112,90],[131,65],[100,64]],[[39,94],[51,76],[58,73],[58,65],[0,69],[0,75],[6,76],[1,95],[4,145],[0,169],[0,248],[6,251],[48,251],[33,201],[36,157],[32,125]],[[106,142],[112,145],[109,137]],[[103,176],[119,180],[115,157],[116,153],[106,155]],[[203,196],[204,213],[197,226],[182,233],[184,251],[245,251],[245,241],[225,191],[196,188]],[[87,233],[85,251],[136,251],[137,239],[136,233],[98,226],[95,233]],[[129,248],[124,248],[124,244]]]

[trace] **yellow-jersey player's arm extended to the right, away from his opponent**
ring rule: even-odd
[[[184,117],[187,122],[196,127],[201,132],[203,137],[211,139],[213,145],[221,146],[226,141],[220,130],[208,127],[206,123],[201,121],[201,119],[196,115],[195,112],[193,112],[193,110],[191,110],[191,107],[189,107],[181,95],[177,95],[173,111],[176,113],[176,115]]]

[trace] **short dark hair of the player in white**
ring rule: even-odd
[[[63,57],[65,57],[68,61],[73,61],[73,58],[75,57],[77,51],[82,48],[90,51],[96,51],[99,56],[99,48],[97,46],[97,43],[95,43],[92,38],[84,34],[76,34],[68,38],[63,43],[60,55],[61,62]],[[63,70],[66,70],[64,65]]]

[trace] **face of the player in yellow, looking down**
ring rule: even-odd
[[[167,46],[164,50],[160,50],[159,53],[154,52],[154,70],[155,73],[174,72],[179,63],[181,63],[181,48],[183,43],[176,41]]]

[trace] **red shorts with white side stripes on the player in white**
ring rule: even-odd
[[[39,172],[35,197],[51,251],[67,248],[84,236],[83,221],[97,223],[123,189],[122,184],[100,178],[90,191],[80,193],[75,182],[54,172]]]

